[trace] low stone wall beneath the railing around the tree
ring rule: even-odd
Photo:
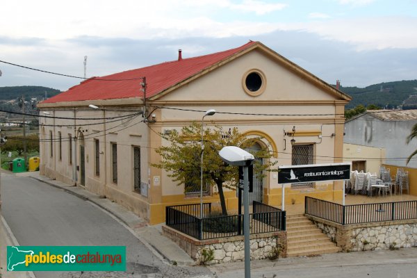
[[[163,226],[162,228],[164,235],[174,240],[197,263],[202,261],[202,250],[204,249],[213,250],[214,259],[209,263],[227,263],[245,259],[244,236],[197,240],[170,227]],[[285,257],[286,231],[250,235],[251,260],[270,258],[277,248],[279,256]]]

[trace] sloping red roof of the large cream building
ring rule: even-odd
[[[142,81],[138,79],[142,76],[145,76],[147,81],[146,97],[152,97],[257,43],[258,42],[250,41],[241,47],[217,52],[215,54],[184,58],[182,60],[174,60],[172,62],[142,67],[137,70],[128,70],[126,72],[119,72],[108,76],[95,77],[83,81],[79,85],[75,85],[66,92],[62,92],[55,97],[42,101],[42,103],[143,97],[143,92],[140,90],[140,83]],[[103,81],[97,79],[136,80]]]

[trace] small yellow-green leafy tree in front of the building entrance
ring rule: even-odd
[[[184,126],[181,133],[172,131],[165,139],[170,145],[159,147],[156,153],[161,155],[161,162],[152,164],[154,167],[166,170],[177,186],[182,184],[199,185],[201,167],[201,124],[193,123]],[[236,190],[238,181],[238,167],[228,165],[222,161],[218,152],[224,146],[238,146],[243,149],[253,146],[260,138],[247,138],[237,128],[224,132],[221,126],[204,130],[204,161],[203,183],[217,186],[222,207],[222,214],[227,215],[223,188]],[[250,152],[250,151],[249,151]],[[264,158],[263,163],[254,164],[254,174],[263,177],[263,171],[272,171],[270,167],[277,161],[272,161],[272,154],[268,150],[252,153],[256,158]]]

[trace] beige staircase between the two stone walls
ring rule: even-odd
[[[287,215],[286,229],[287,256],[313,256],[340,251],[340,248],[303,214]]]

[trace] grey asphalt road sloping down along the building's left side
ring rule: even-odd
[[[125,245],[126,272],[35,272],[48,277],[194,277],[163,263],[97,206],[29,177],[1,174],[2,213],[19,245]],[[144,275],[144,276],[142,276]]]

